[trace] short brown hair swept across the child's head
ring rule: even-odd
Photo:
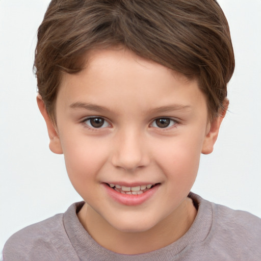
[[[211,118],[223,108],[234,55],[215,0],[53,0],[38,29],[34,64],[52,120],[62,73],[81,71],[88,50],[119,44],[196,77]]]

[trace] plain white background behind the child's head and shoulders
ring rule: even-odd
[[[32,73],[36,31],[49,0],[0,0],[0,249],[12,233],[81,200],[62,155],[48,149]],[[236,71],[230,108],[192,189],[261,217],[261,1],[220,0],[230,24]]]

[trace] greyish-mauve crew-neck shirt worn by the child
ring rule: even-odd
[[[79,202],[64,214],[16,232],[4,247],[4,261],[261,260],[260,218],[189,196],[198,208],[196,219],[184,236],[164,248],[123,255],[101,247],[77,218],[84,203]]]

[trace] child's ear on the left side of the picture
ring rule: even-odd
[[[51,151],[53,151],[56,154],[63,154],[63,149],[61,146],[58,132],[56,130],[55,125],[53,124],[53,121],[51,121],[51,119],[45,109],[43,99],[39,93],[37,94],[36,99],[37,99],[38,108],[39,108],[39,110],[45,120],[46,126],[47,126],[47,131],[48,131],[48,135],[49,135],[49,139],[50,139],[49,148]]]

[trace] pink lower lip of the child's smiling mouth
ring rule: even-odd
[[[109,187],[107,184],[102,183],[103,187],[105,187],[107,193],[111,198],[113,198],[115,201],[117,201],[120,204],[128,205],[128,206],[135,206],[135,205],[141,205],[145,201],[147,201],[150,197],[155,194],[155,192],[159,189],[160,184],[155,185],[153,188],[147,190],[146,192],[143,192],[139,195],[128,195],[128,194],[122,194],[111,187]]]

